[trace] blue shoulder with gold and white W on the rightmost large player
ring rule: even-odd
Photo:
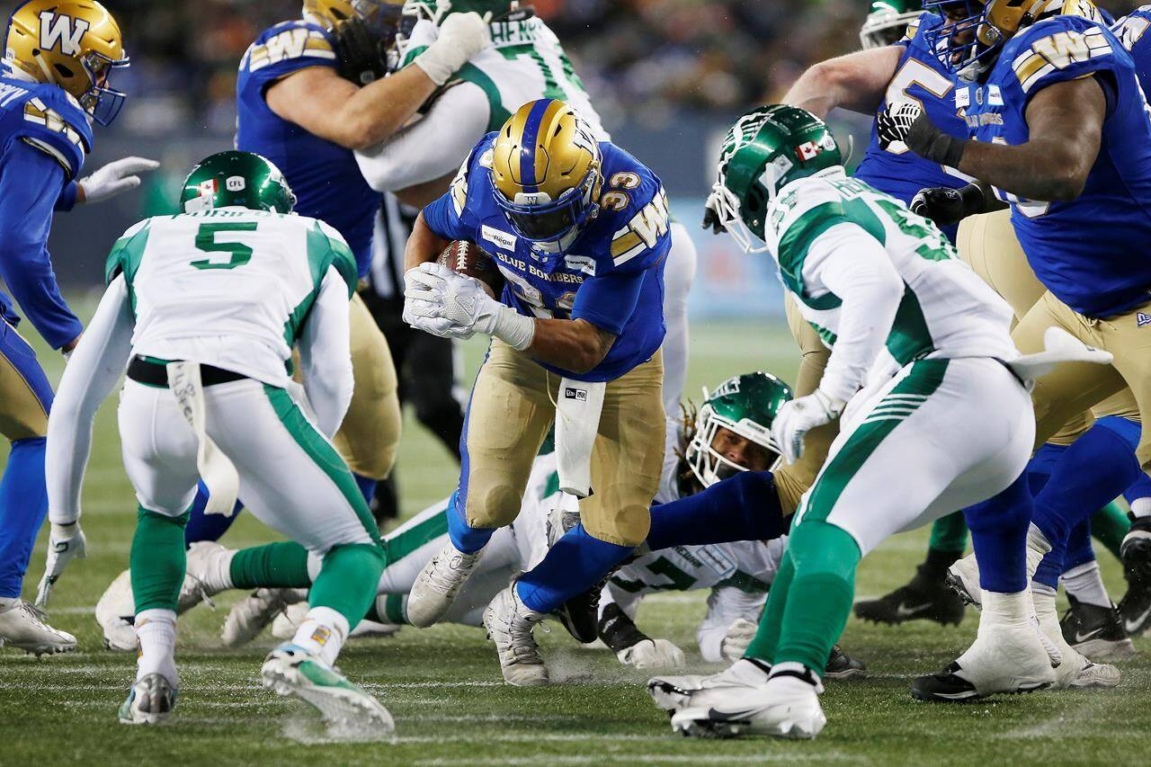
[[[1023,93],[1050,84],[1110,69],[1114,38],[1105,26],[1078,16],[1054,16],[1028,26],[1012,39],[1011,67]],[[1126,54],[1125,54],[1126,56]]]

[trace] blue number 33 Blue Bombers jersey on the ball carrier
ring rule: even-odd
[[[467,240],[491,253],[506,278],[501,301],[526,317],[584,319],[617,336],[587,373],[548,367],[584,381],[619,378],[663,343],[663,267],[671,248],[668,199],[660,179],[615,144],[602,142],[604,184],[599,214],[558,257],[516,234],[496,204],[491,144],[480,139],[451,188],[424,208],[445,240]]]

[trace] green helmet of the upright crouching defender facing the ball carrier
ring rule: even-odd
[[[763,228],[776,193],[843,162],[831,129],[810,112],[785,104],[755,107],[724,138],[708,207],[740,248],[760,252],[767,250]]]

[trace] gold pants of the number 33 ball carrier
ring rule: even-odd
[[[493,340],[475,377],[464,424],[459,498],[471,527],[511,524],[532,462],[556,416],[559,375]],[[665,420],[663,355],[608,382],[592,448],[593,493],[579,502],[584,529],[600,540],[638,546],[651,524]]]

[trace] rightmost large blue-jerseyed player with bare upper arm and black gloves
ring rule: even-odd
[[[981,182],[959,193],[928,190],[922,210],[955,220],[1009,204],[1022,252],[1047,289],[1015,328],[1017,345],[1034,350],[1059,326],[1114,354],[1110,366],[1064,369],[1036,388],[1038,445],[1125,385],[1144,410],[1151,345],[1139,322],[1151,304],[1151,256],[1130,243],[1151,233],[1151,122],[1130,55],[1081,3],[952,7],[936,40],[970,100],[976,141],[940,134],[914,105],[889,107],[889,138]],[[1085,464],[1095,471],[1078,469]],[[1035,576],[1041,621],[1054,613],[1082,509],[1129,487],[1141,464],[1151,465],[1151,426],[1137,413],[1100,419],[1058,458],[1035,507],[1042,534],[1031,542],[1051,546]],[[971,567],[956,575],[969,579]]]

